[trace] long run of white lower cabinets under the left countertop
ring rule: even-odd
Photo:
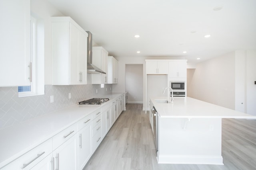
[[[82,170],[124,109],[123,105],[124,95],[100,107],[0,169]]]

